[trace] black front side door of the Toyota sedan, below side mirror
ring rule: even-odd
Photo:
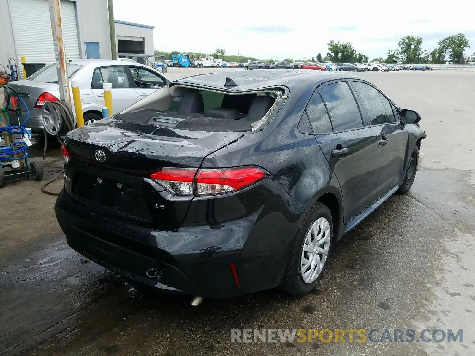
[[[404,157],[409,132],[400,124],[395,105],[374,86],[361,81],[352,81],[352,87],[361,102],[367,125],[378,135],[381,181],[379,195],[399,185],[404,176]]]

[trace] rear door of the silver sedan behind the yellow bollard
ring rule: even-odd
[[[104,104],[104,82],[112,84],[113,113],[117,113],[138,101],[135,88],[132,87],[128,69],[125,66],[108,66],[96,68],[92,77],[91,90],[99,107]]]

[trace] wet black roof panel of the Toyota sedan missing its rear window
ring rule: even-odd
[[[237,86],[225,86],[226,78],[230,77]],[[289,89],[315,86],[334,79],[362,79],[356,75],[335,74],[321,71],[303,71],[299,69],[267,69],[265,71],[244,71],[228,73],[208,73],[193,75],[171,83],[192,84],[201,87],[211,87],[229,92],[259,90],[263,88],[287,86]]]

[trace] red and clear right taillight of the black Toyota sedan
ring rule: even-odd
[[[150,178],[173,194],[204,196],[237,191],[267,175],[266,171],[257,167],[207,168],[199,169],[198,174],[196,168],[163,168]]]

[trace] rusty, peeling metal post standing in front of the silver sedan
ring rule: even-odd
[[[53,46],[55,48],[56,69],[58,74],[59,98],[71,105],[69,79],[67,77],[66,52],[63,42],[63,28],[61,26],[61,4],[59,0],[48,0],[51,30],[53,32]]]

